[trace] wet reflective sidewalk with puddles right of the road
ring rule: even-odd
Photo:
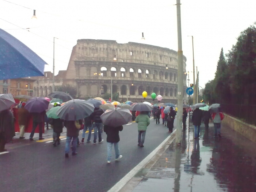
[[[189,126],[180,147],[167,142],[119,192],[256,191],[255,143],[224,126],[214,138],[213,123],[194,140]]]

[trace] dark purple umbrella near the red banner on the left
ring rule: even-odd
[[[48,109],[49,101],[44,99],[44,97],[34,97],[29,99],[26,102],[25,109],[29,111],[29,113],[41,113]]]

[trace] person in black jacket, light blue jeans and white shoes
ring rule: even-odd
[[[104,132],[107,134],[107,143],[108,143],[108,163],[111,163],[111,150],[112,146],[114,145],[115,153],[116,153],[116,161],[122,158],[119,151],[119,131],[123,130],[122,126],[118,127],[111,127],[108,125],[104,125],[103,127]]]

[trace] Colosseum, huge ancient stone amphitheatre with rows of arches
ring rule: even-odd
[[[186,89],[186,57],[183,57],[183,89]],[[63,72],[62,72],[63,73]],[[163,102],[177,103],[177,52],[163,47],[111,40],[79,39],[73,47],[63,84],[77,87],[80,98],[101,97],[111,93],[113,100],[140,102],[142,93],[163,96]],[[47,81],[48,82],[48,81]],[[52,84],[40,85],[51,92]],[[35,87],[39,93],[38,87]],[[44,93],[45,91],[41,91]],[[185,91],[184,91],[185,93]],[[40,94],[40,93],[39,93]],[[186,99],[186,94],[183,98]]]

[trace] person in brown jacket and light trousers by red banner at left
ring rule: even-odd
[[[25,133],[25,128],[28,122],[28,116],[29,116],[29,111],[26,110],[25,107],[26,103],[21,104],[21,108],[18,109],[18,124],[20,126],[20,139],[25,139],[24,133]]]

